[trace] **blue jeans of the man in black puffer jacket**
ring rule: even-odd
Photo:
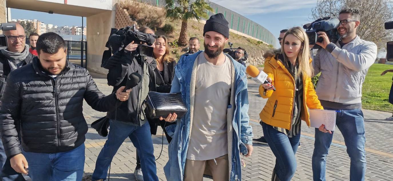
[[[80,181],[84,169],[84,144],[59,153],[23,151],[33,181]]]

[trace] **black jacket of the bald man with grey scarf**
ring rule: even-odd
[[[29,53],[26,59],[23,60],[24,62],[22,66],[31,63],[34,57],[35,55]],[[8,59],[9,58],[6,57],[6,55],[3,55],[0,52],[0,98],[2,97],[4,88],[6,87],[7,76],[11,72],[11,67],[9,67]]]

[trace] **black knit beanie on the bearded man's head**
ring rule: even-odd
[[[217,33],[221,33],[224,37],[229,38],[228,24],[228,21],[224,18],[222,13],[213,15],[206,21],[203,28],[203,36],[205,36],[205,33],[208,31],[215,31]]]

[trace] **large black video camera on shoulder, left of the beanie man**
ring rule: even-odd
[[[157,37],[154,34],[142,33],[136,30],[135,24],[133,26],[120,28],[119,30],[112,28],[107,44],[105,45],[109,48],[109,50],[104,51],[101,67],[108,69],[107,61],[112,56],[112,54],[123,50],[123,48],[125,48],[125,46],[130,44],[132,41],[134,41],[135,44],[138,44],[138,48],[136,51],[132,52],[132,55],[135,57],[139,55],[152,57],[153,47],[151,46],[156,41],[156,38]],[[146,43],[147,45],[143,43]]]

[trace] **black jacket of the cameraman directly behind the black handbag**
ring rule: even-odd
[[[142,70],[142,63],[146,63],[148,67],[147,71],[149,71],[150,75],[150,79],[147,80],[149,81],[149,91],[156,90],[156,76],[154,72],[154,69],[156,69],[156,60],[152,57],[134,57],[130,52],[119,51],[110,57],[108,61],[118,62],[114,67],[109,69],[107,75],[108,85],[113,86],[113,92],[119,87],[125,86],[127,77],[133,72],[138,72],[143,77],[144,70]],[[107,118],[140,125],[140,105],[145,100],[145,98],[141,98],[139,95],[139,90],[142,89],[143,85],[142,81],[146,80],[141,80],[138,85],[133,87],[129,99],[121,102],[116,111],[109,111]]]

